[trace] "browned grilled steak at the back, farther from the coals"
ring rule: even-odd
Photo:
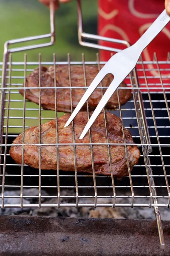
[[[94,77],[98,73],[97,66],[86,66],[86,82],[87,86],[91,84]],[[54,87],[54,67],[41,67],[41,87]],[[113,80],[112,76],[109,74],[105,77],[102,82],[103,87],[108,87]],[[56,84],[57,87],[57,111],[71,113],[71,96],[70,89],[64,87],[69,87],[69,73],[67,65],[57,65],[56,66]],[[71,86],[72,87],[85,87],[84,73],[82,66],[71,66]],[[39,68],[36,68],[31,74],[27,76],[26,87],[39,87]],[[126,84],[123,82],[120,87],[126,87]],[[103,90],[105,93],[106,89]],[[23,89],[20,90],[20,93],[23,95]],[[26,90],[26,99],[29,99],[32,102],[39,104],[39,89],[29,89]],[[73,108],[77,106],[85,89],[72,89],[72,100]],[[131,98],[131,92],[129,89],[119,90],[120,104],[125,104]],[[100,99],[102,98],[101,89],[96,89],[92,93],[91,97],[88,100],[89,110],[92,111],[98,105]],[[55,89],[42,89],[41,90],[41,105],[44,109],[51,109],[55,111]],[[117,92],[113,94],[108,104],[106,105],[107,109],[114,109],[118,106]],[[85,110],[87,105],[85,104],[82,110]]]

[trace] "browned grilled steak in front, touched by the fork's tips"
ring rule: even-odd
[[[91,114],[91,113],[90,113]],[[70,114],[65,114],[59,117],[58,138],[59,143],[73,143],[72,125],[63,128]],[[121,120],[116,115],[107,112],[107,128],[109,143],[123,143]],[[79,136],[82,133],[88,116],[86,112],[79,112],[74,119],[74,134],[76,143],[90,143],[89,134],[86,134],[82,140]],[[126,143],[134,143],[130,131],[125,128]],[[13,144],[22,144],[23,135],[20,134]],[[96,121],[91,127],[92,143],[106,143],[106,131],[104,115],[100,113]],[[25,131],[25,144],[39,143],[39,127],[31,127]],[[56,143],[56,122],[52,120],[41,126],[41,143],[51,144]],[[59,169],[63,171],[74,171],[74,146],[59,145]],[[57,169],[57,152],[55,145],[44,145],[41,147],[41,169]],[[125,157],[125,147],[123,145],[111,145],[111,161],[113,175],[116,178],[122,178],[128,175],[127,162]],[[140,151],[136,145],[128,145],[128,159],[130,170],[138,163]],[[16,163],[21,164],[22,146],[11,146],[9,151],[11,157]],[[94,145],[94,169],[96,175],[111,175],[108,159],[107,145]],[[24,146],[24,163],[39,168],[39,146],[25,145]],[[77,172],[92,173],[91,149],[89,145],[76,146],[76,164]]]

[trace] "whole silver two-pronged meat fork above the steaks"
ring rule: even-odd
[[[73,121],[74,117],[77,116],[77,113],[80,111],[82,106],[94,92],[102,79],[104,79],[107,74],[111,73],[113,74],[114,79],[109,85],[99,104],[97,105],[94,113],[92,114],[87,125],[82,131],[79,139],[81,140],[85,136],[85,134],[91,128],[91,125],[94,123],[97,116],[99,116],[99,113],[105,107],[119,84],[121,84],[122,81],[128,76],[128,74],[134,69],[142,51],[147,47],[148,44],[150,44],[150,42],[156,37],[156,35],[161,32],[161,30],[164,28],[164,26],[167,25],[169,21],[170,15],[168,15],[166,10],[164,9],[164,11],[159,15],[159,17],[157,17],[157,19],[152,23],[152,25],[135,44],[122,50],[121,52],[116,53],[110,58],[110,60],[105,64],[104,67],[102,67],[97,76],[94,78],[91,85],[82,96],[82,99],[79,101],[79,104],[71,114],[64,127],[67,127],[71,123],[71,121]]]

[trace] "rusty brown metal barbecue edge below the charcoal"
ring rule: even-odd
[[[170,221],[0,216],[0,256],[170,255]]]

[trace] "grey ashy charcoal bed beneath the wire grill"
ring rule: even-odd
[[[24,195],[30,195],[31,197],[37,196],[39,190],[37,188],[25,189]],[[5,191],[4,195],[18,196],[20,190]],[[42,196],[48,196],[47,198],[41,198],[42,204],[57,204],[57,198],[50,198],[50,195],[41,190]],[[64,198],[64,196],[74,196],[74,190],[65,189],[62,191],[63,198],[60,198],[61,204],[71,204],[75,202],[73,198]],[[125,196],[127,194],[125,193]],[[145,198],[140,198],[141,204],[146,203]],[[159,198],[159,203],[163,204],[165,201],[163,198]],[[1,198],[0,198],[1,203]],[[20,198],[4,198],[5,204],[20,204]],[[34,216],[51,216],[51,217],[84,217],[84,218],[124,218],[124,219],[155,219],[154,209],[149,207],[31,207],[31,204],[37,204],[38,198],[23,198],[23,204],[30,204],[28,208],[5,208],[0,209],[0,215],[34,215]],[[94,198],[79,198],[79,204],[93,204]],[[112,198],[98,198],[98,204],[112,204]],[[116,198],[117,204],[130,204],[131,198]],[[137,201],[136,201],[137,203]],[[170,219],[170,210],[167,208],[160,208],[162,220]]]

